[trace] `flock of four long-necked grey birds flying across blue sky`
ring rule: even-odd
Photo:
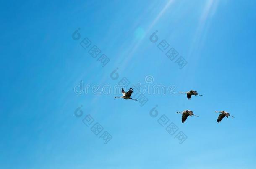
[[[133,89],[130,88],[127,92],[125,92],[125,90],[122,88],[122,95],[121,97],[115,97],[115,98],[123,98],[125,100],[137,100],[137,99],[133,99],[131,98],[131,94],[133,93]],[[197,91],[188,91],[188,92],[180,92],[181,94],[187,94],[187,98],[188,100],[191,99],[191,96],[192,95],[195,95],[195,96],[203,96],[203,95],[200,95],[197,93]],[[220,123],[220,121],[226,116],[228,118],[228,116],[230,117],[234,117],[234,116],[231,116],[227,111],[215,111],[216,113],[221,113],[219,114],[219,117],[217,119],[217,123]],[[185,123],[186,119],[188,118],[188,116],[196,116],[198,117],[197,115],[193,114],[193,111],[191,110],[184,110],[182,112],[177,112],[177,113],[181,113],[182,114],[182,117],[181,117],[181,122],[182,123]]]

